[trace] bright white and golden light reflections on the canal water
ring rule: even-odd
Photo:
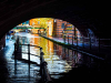
[[[22,35],[22,34],[19,34]],[[28,41],[24,41],[23,43],[31,43],[32,45],[39,45],[41,46],[43,50],[43,58],[44,60],[48,62],[48,70],[50,73],[63,73],[63,72],[69,72],[71,70],[71,65],[68,64],[68,62],[65,60],[61,60],[62,58],[60,55],[62,55],[60,51],[61,48],[59,48],[59,50],[54,49],[53,42],[46,40],[44,38],[41,37],[36,37],[32,35],[30,33],[23,33],[22,37],[27,37]],[[23,52],[28,52],[28,46],[22,46],[22,51]],[[40,51],[37,48],[30,48],[30,52],[33,54],[39,54],[40,55]],[[22,54],[22,59],[28,60],[28,54]],[[40,60],[38,56],[30,56],[31,61],[37,62],[38,64],[40,64]]]

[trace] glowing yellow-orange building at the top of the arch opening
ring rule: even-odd
[[[32,25],[33,29],[31,29],[32,33],[43,33],[44,29],[47,30],[49,35],[52,35],[52,29],[53,29],[53,19],[51,18],[36,18],[29,20],[29,24]],[[48,30],[49,27],[49,30]]]

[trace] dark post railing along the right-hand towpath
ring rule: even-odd
[[[83,49],[98,50],[98,51],[100,51],[101,49],[111,48],[111,39],[95,39],[85,37],[64,35],[63,42],[74,46],[81,46]]]

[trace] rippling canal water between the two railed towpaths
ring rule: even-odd
[[[97,69],[99,71],[100,62],[91,58],[89,55],[84,55],[79,53],[74,50],[67,49],[62,45],[53,43],[50,40],[47,40],[38,34],[30,34],[30,33],[16,33],[16,37],[19,35],[21,44],[32,44],[41,46],[43,50],[43,58],[48,62],[48,70],[51,74],[51,77],[59,79],[63,75],[61,73],[68,73],[73,68],[87,66],[89,69]],[[22,45],[22,59],[28,60],[28,45]],[[39,48],[30,46],[30,53],[34,54],[31,55],[30,59],[33,62],[40,64],[40,55]],[[37,55],[37,56],[36,56]]]

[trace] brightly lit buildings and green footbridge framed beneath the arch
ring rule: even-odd
[[[62,38],[63,35],[69,35],[70,38],[78,37],[82,34],[73,24],[53,18],[34,18],[29,21],[22,22],[12,29],[18,32],[20,30],[29,30],[31,33],[46,33],[49,37]]]

